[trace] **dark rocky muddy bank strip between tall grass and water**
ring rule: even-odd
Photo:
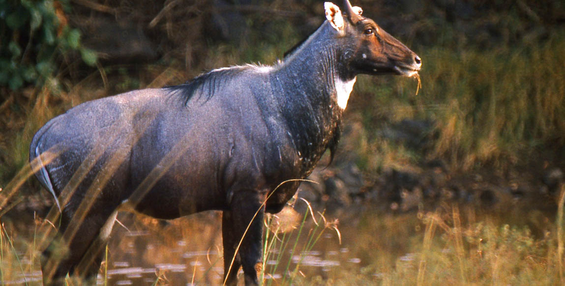
[[[373,204],[391,212],[406,212],[419,205],[458,202],[486,209],[528,208],[556,210],[563,171],[548,167],[541,171],[492,170],[454,173],[441,161],[423,167],[389,169],[368,181],[354,164],[344,168],[318,168],[299,188],[299,196],[336,209],[355,204]]]

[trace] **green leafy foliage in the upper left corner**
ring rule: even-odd
[[[57,57],[70,51],[95,64],[80,31],[66,24],[68,9],[68,1],[0,0],[0,86],[42,86],[57,71]]]

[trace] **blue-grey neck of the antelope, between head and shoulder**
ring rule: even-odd
[[[342,109],[336,80],[343,80],[340,52],[324,23],[292,55],[279,64],[272,80],[282,91],[282,115],[289,127],[303,170],[309,174],[325,150],[332,152],[340,136]]]

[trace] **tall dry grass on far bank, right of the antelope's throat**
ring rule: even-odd
[[[441,158],[455,168],[507,164],[523,159],[536,148],[565,143],[565,34],[555,32],[541,44],[499,49],[425,48],[420,73],[422,89],[405,78],[383,78],[379,84],[363,77],[356,91],[368,139],[379,144],[369,149],[402,160],[402,149],[381,147],[375,129],[382,121],[405,118],[433,120],[437,138],[423,156]],[[355,100],[355,99],[353,99]],[[371,144],[371,143],[369,143]],[[396,155],[394,155],[396,152]],[[400,152],[400,153],[398,153]],[[394,160],[389,160],[394,161]],[[378,169],[379,162],[370,168]]]

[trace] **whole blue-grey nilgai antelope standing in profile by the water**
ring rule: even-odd
[[[160,219],[221,210],[225,284],[236,285],[243,267],[245,285],[257,285],[264,212],[279,212],[298,188],[293,179],[327,149],[333,156],[357,75],[411,77],[421,67],[361,8],[324,7],[327,21],[272,66],[219,68],[92,100],[37,131],[30,160],[60,210],[42,255],[44,284],[63,285],[69,274],[94,285],[127,205]]]

